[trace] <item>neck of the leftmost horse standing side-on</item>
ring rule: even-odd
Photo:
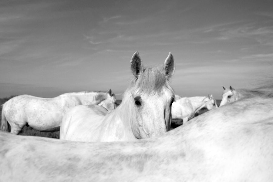
[[[78,92],[73,95],[78,97],[82,104],[99,104],[107,98],[104,92]]]

